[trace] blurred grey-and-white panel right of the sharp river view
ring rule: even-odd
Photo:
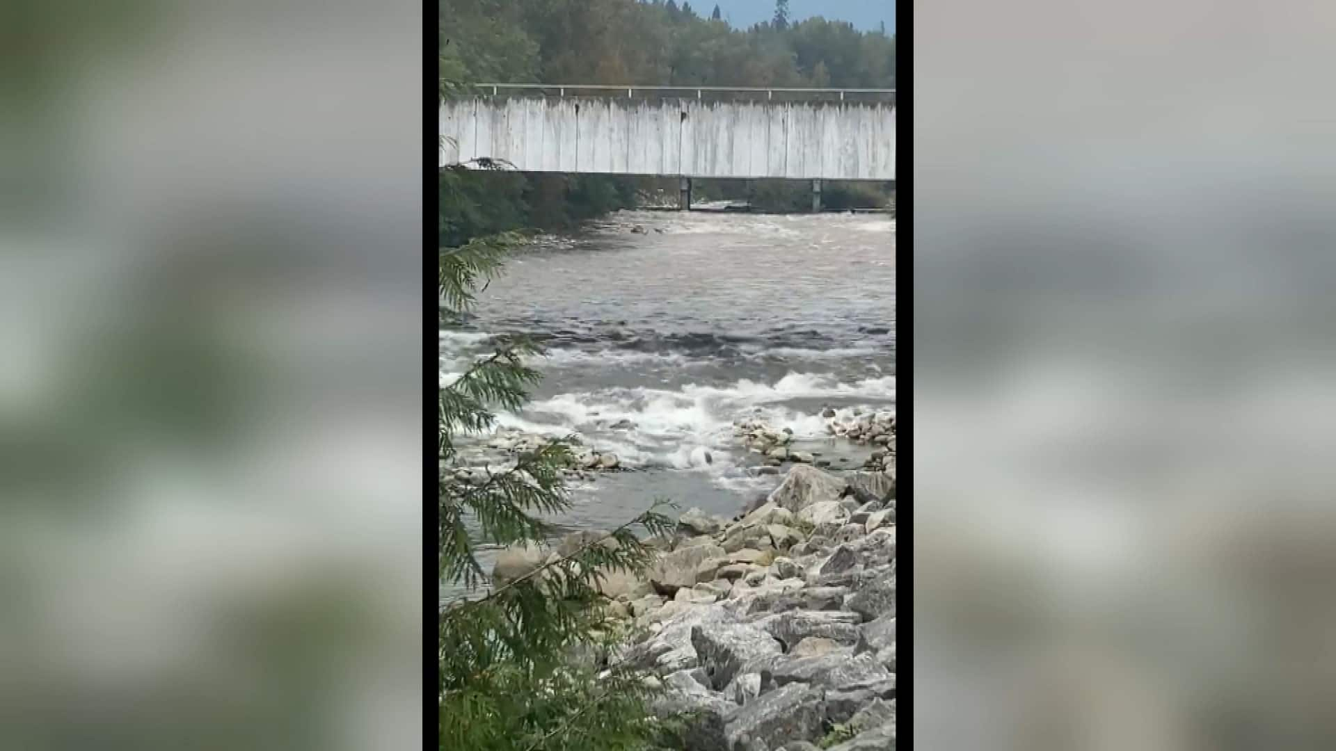
[[[915,746],[1336,747],[1336,7],[914,13]]]

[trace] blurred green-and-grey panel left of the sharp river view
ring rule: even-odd
[[[421,3],[0,3],[0,748],[422,743]]]

